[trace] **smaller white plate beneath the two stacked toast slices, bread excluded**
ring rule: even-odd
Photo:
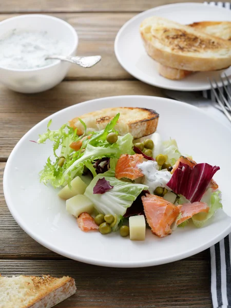
[[[128,73],[147,84],[182,91],[210,89],[207,77],[219,79],[223,72],[231,80],[231,68],[223,71],[197,72],[183,80],[162,77],[158,73],[158,63],[147,55],[139,32],[141,22],[150,16],[160,16],[186,25],[201,21],[231,21],[231,10],[200,3],[177,3],[150,9],[134,16],[120,29],[114,43],[115,55]]]

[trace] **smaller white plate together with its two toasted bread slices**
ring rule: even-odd
[[[142,40],[140,34],[142,22],[146,20],[146,18],[152,16],[155,16],[154,18],[156,19],[161,17],[169,20],[169,22],[165,21],[165,23],[161,25],[155,25],[155,33],[152,32],[152,29],[150,30],[151,33],[155,35],[155,42],[157,42],[156,37],[158,38],[158,42],[155,43],[158,44],[158,46],[155,46],[155,50],[152,48],[153,44],[149,44],[148,38],[146,44],[144,44],[145,40]],[[172,36],[172,40],[169,40],[167,43],[169,44],[167,51],[170,50],[170,53],[165,53],[166,46],[165,43],[162,44],[162,40],[166,40],[169,33],[170,35],[178,34],[178,32],[171,33],[172,29],[174,28],[175,31],[176,28],[176,25],[174,23],[172,24],[171,21],[182,25],[190,25],[191,30],[189,29],[189,35],[186,35],[187,40],[185,37],[180,38],[180,44],[178,44],[179,37],[177,37],[177,35]],[[179,29],[181,30],[181,34],[183,31],[187,30],[183,27],[182,29],[179,27]],[[143,33],[145,34],[147,31],[149,31],[148,25],[146,25]],[[198,54],[200,54],[197,58],[195,58],[194,50],[190,49],[191,35],[195,34],[199,44]],[[214,36],[211,37],[212,34]],[[143,35],[143,37],[144,36],[145,35]],[[221,38],[223,39],[222,41]],[[207,80],[208,77],[218,80],[220,74],[223,75],[225,72],[231,80],[231,68],[224,68],[224,66],[228,67],[231,64],[231,55],[229,54],[231,46],[230,38],[231,10],[199,3],[179,3],[153,8],[131,18],[131,20],[129,20],[118,32],[115,38],[114,50],[122,67],[135,78],[147,84],[172,90],[200,91],[210,89],[210,84]],[[203,44],[203,39],[206,41],[209,40],[209,50],[207,50],[207,46]],[[161,47],[160,44],[162,44]],[[186,52],[182,49],[182,44]],[[172,47],[173,45],[174,47]],[[218,46],[218,48],[216,49],[213,45]],[[221,45],[225,45],[225,48]],[[175,47],[178,48],[177,52]],[[195,46],[193,46],[193,48],[194,47]],[[175,50],[172,48],[175,48]],[[160,50],[161,52],[159,52]],[[196,50],[196,52],[198,52],[198,50]],[[206,57],[208,61],[204,61],[204,59],[201,58],[202,53],[204,53],[203,56]],[[228,54],[225,59],[227,62],[221,64],[224,60],[224,53]],[[182,58],[182,54],[185,56],[184,58]],[[187,60],[184,61],[186,57]],[[189,57],[190,61],[188,61]],[[153,58],[156,60],[158,59],[161,64],[153,60]],[[188,62],[189,65],[187,65]],[[194,72],[191,72],[190,68],[194,70]],[[195,72],[195,70],[199,68],[205,71]],[[219,86],[220,85],[221,83]]]

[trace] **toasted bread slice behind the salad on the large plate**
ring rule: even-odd
[[[151,109],[138,107],[106,108],[81,115],[69,121],[69,125],[77,128],[79,135],[84,133],[84,127],[79,118],[85,122],[88,131],[99,131],[106,127],[110,120],[120,113],[115,125],[121,136],[130,132],[134,139],[147,136],[157,129],[159,114]]]

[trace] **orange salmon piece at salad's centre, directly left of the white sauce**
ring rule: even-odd
[[[138,165],[143,161],[144,157],[142,154],[122,154],[115,166],[115,178],[135,180],[143,177],[142,171],[138,168]]]

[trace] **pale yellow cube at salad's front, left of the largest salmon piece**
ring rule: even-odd
[[[129,217],[130,240],[144,241],[146,232],[146,223],[144,215]]]

